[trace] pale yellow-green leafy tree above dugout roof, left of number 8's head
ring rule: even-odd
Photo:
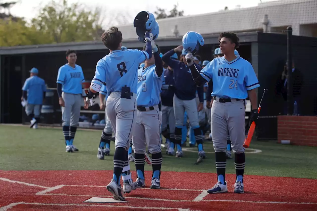
[[[81,42],[99,40],[101,10],[88,11],[83,4],[68,6],[66,0],[54,0],[41,8],[39,15],[32,19],[32,27],[47,35],[47,43]]]

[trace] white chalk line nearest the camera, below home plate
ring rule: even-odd
[[[169,208],[169,207],[134,207],[134,206],[126,206],[126,205],[101,205],[101,204],[54,204],[54,203],[27,203],[27,202],[17,202],[17,203],[11,203],[5,207],[0,208],[0,211],[6,211],[10,208],[13,208],[16,205],[46,205],[46,206],[78,206],[78,207],[111,207],[111,208],[130,208],[130,209],[153,209],[153,210],[184,210],[181,208]],[[5,209],[4,209],[5,208]]]

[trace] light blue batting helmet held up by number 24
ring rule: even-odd
[[[186,53],[191,52],[195,55],[199,50],[199,46],[204,46],[204,38],[197,32],[189,31],[183,36],[182,44]]]

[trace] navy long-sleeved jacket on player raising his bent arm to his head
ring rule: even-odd
[[[184,62],[171,59],[171,55],[175,53],[174,49],[166,52],[162,56],[162,60],[171,68],[173,68],[175,78],[175,95],[181,100],[191,100],[196,98],[196,91],[198,92],[199,102],[204,102],[204,87],[196,86],[191,71],[184,64]],[[197,70],[200,72],[201,67],[195,64]]]

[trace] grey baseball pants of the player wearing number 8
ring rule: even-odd
[[[112,92],[107,99],[106,113],[115,136],[115,148],[128,150],[137,114],[136,94],[126,99],[121,98],[121,92]]]

